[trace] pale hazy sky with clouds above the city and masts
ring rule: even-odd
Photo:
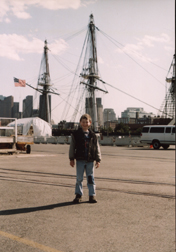
[[[71,120],[76,102],[82,108],[85,103],[71,86],[74,90],[80,86],[74,73],[92,13],[101,31],[96,33],[101,78],[151,105],[100,83],[108,90],[108,94],[97,93],[103,107],[113,108],[117,117],[127,107],[157,114],[153,107],[160,109],[164,100],[165,78],[175,53],[174,10],[174,0],[1,0],[0,95],[13,95],[20,108],[22,100],[33,95],[38,106],[37,93],[29,87],[14,87],[13,77],[37,86],[47,39],[51,80],[60,93],[52,95],[52,119],[55,123]]]

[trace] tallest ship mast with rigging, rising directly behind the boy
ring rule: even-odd
[[[99,80],[98,75],[98,60],[97,60],[97,47],[96,47],[96,29],[94,24],[93,15],[90,15],[90,22],[88,25],[87,34],[87,47],[85,51],[84,63],[82,73],[80,74],[80,84],[85,85],[87,90],[86,98],[86,113],[92,117],[93,129],[95,132],[98,131],[98,118],[97,118],[97,103],[95,97],[95,91],[99,90],[107,93],[107,91],[101,89],[97,85]]]

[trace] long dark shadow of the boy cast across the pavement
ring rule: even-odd
[[[79,204],[82,204],[82,203],[87,203],[87,202],[86,201],[85,202],[80,202]],[[31,213],[31,212],[36,212],[36,211],[51,210],[51,209],[58,208],[58,207],[72,206],[72,205],[77,205],[77,204],[78,203],[73,203],[73,201],[70,201],[70,202],[62,202],[62,203],[46,205],[46,206],[8,209],[8,210],[0,211],[0,215],[13,215],[13,214]]]

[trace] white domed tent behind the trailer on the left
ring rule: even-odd
[[[8,124],[15,127],[15,121]],[[52,136],[51,125],[39,117],[29,117],[17,120],[17,127],[22,126],[22,134],[27,135],[30,127],[33,127],[33,136]]]

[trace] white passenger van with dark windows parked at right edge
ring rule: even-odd
[[[142,129],[141,143],[153,145],[154,149],[162,146],[165,150],[175,145],[175,125],[146,125]]]

